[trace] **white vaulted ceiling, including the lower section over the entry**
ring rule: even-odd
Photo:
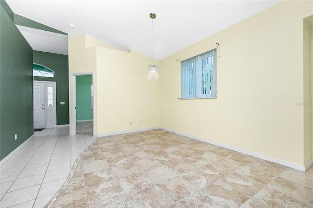
[[[6,0],[15,14],[161,60],[282,0]],[[70,28],[69,24],[74,28]],[[61,36],[22,28],[34,50],[67,54]],[[38,33],[38,34],[37,34]],[[44,36],[47,36],[45,39]],[[60,42],[58,42],[60,41]],[[53,44],[53,42],[55,42]],[[62,49],[61,49],[62,48]]]

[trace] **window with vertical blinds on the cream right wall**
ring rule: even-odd
[[[217,98],[216,49],[181,62],[181,99]]]

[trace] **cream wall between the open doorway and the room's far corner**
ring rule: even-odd
[[[135,51],[97,47],[97,134],[159,126],[158,81],[147,78],[151,63]]]

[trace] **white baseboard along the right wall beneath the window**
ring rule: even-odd
[[[189,138],[192,138],[192,139],[195,139],[195,140],[199,140],[201,142],[205,142],[205,143],[208,143],[208,144],[211,144],[211,145],[221,146],[221,147],[224,147],[226,149],[234,150],[236,152],[244,153],[246,155],[250,155],[250,156],[253,156],[253,157],[256,157],[256,158],[267,160],[267,161],[270,161],[270,162],[273,162],[273,163],[277,163],[279,165],[291,167],[291,168],[294,168],[294,169],[297,169],[297,170],[301,170],[301,171],[306,171],[313,164],[313,159],[306,166],[300,166],[298,164],[290,163],[290,162],[287,162],[287,161],[284,161],[284,160],[280,160],[280,159],[277,159],[277,158],[268,157],[266,155],[262,155],[262,154],[251,152],[251,151],[247,151],[245,149],[240,149],[240,148],[237,148],[237,147],[228,146],[228,145],[224,145],[224,144],[221,144],[221,143],[209,141],[209,140],[202,139],[202,138],[199,138],[199,137],[195,137],[195,136],[191,136],[191,135],[188,135],[188,134],[180,133],[178,131],[173,131],[171,129],[167,129],[167,128],[163,128],[163,127],[160,127],[160,129],[163,129],[165,131],[170,131],[170,132],[173,132],[173,133],[185,136],[185,137],[189,137]]]

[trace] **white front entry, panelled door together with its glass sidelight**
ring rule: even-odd
[[[54,128],[57,125],[55,86],[55,82],[33,83],[34,130]]]

